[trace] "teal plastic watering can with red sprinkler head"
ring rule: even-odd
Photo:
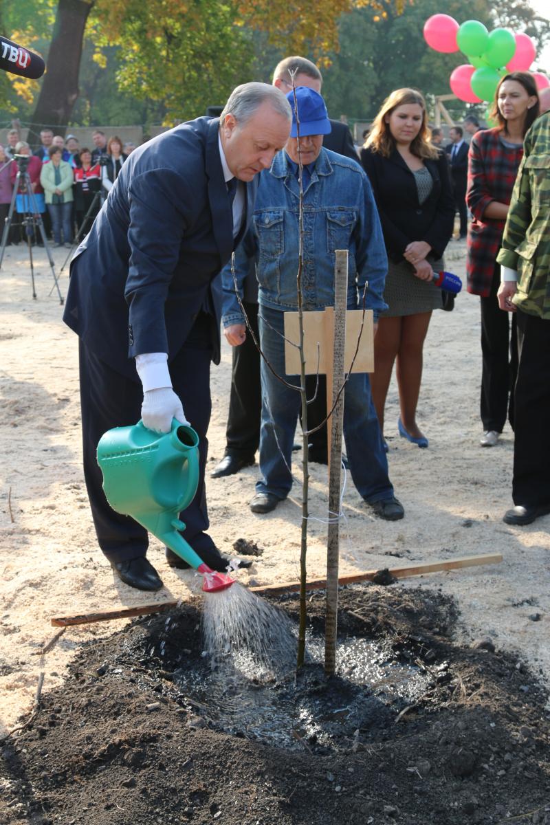
[[[97,463],[113,510],[132,516],[202,573],[204,591],[233,584],[227,573],[210,570],[179,532],[186,529],[180,512],[193,501],[199,483],[199,436],[192,427],[176,418],[167,433],[148,430],[141,421],[133,427],[115,427],[101,436]]]

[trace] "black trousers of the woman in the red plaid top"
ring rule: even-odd
[[[501,267],[496,264],[491,294],[482,298],[482,398],[483,429],[502,432],[506,413],[512,429],[514,387],[518,372],[518,342],[515,313],[511,332],[509,313],[499,309],[496,293],[501,284]]]

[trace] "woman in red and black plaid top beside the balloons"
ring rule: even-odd
[[[468,292],[479,295],[482,305],[484,432],[480,444],[484,447],[496,445],[506,412],[514,427],[514,396],[510,389],[517,371],[515,318],[510,339],[508,316],[499,310],[496,299],[501,284],[496,254],[501,248],[512,189],[524,152],[524,136],[537,116],[538,94],[533,76],[528,72],[507,74],[496,88],[491,112],[498,125],[474,134],[468,156],[466,200],[473,216],[468,233]]]

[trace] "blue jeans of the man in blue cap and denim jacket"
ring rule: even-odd
[[[299,375],[284,374],[284,313],[260,307],[261,349],[277,375],[289,384],[299,385]],[[300,394],[281,384],[261,359],[261,431],[260,470],[257,493],[272,493],[286,498],[292,487],[294,431],[298,422]],[[382,433],[370,394],[369,376],[351,374],[344,396],[344,439],[351,478],[360,496],[367,502],[393,497],[388,478],[388,459],[383,449]]]

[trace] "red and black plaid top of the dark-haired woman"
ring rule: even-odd
[[[473,215],[468,231],[468,292],[487,298],[501,248],[504,220],[484,218],[491,200],[510,204],[523,146],[510,148],[501,141],[501,130],[487,129],[472,137],[468,153],[466,201]]]

